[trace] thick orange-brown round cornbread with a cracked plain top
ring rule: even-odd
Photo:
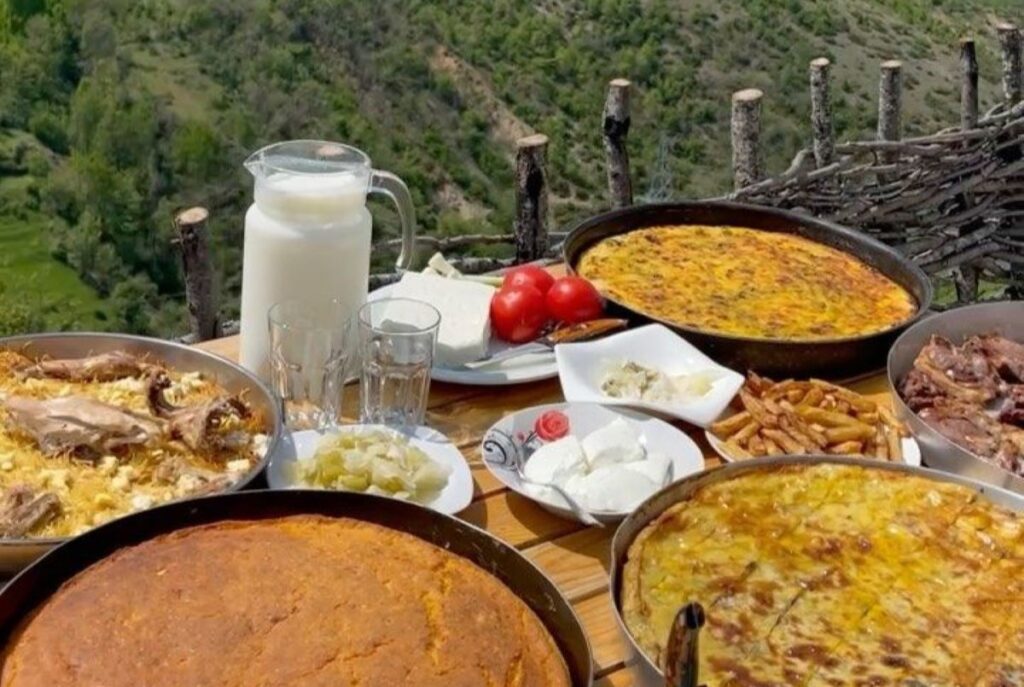
[[[346,518],[224,521],[123,549],[8,643],[2,687],[569,685],[496,577]]]

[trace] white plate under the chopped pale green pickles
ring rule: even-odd
[[[473,476],[462,452],[437,430],[422,426],[400,431],[376,425],[343,425],[326,431],[310,429],[300,432],[285,432],[278,450],[270,456],[270,461],[267,463],[266,481],[271,489],[316,488],[297,484],[291,477],[292,464],[296,461],[310,460],[316,446],[327,436],[382,429],[401,434],[412,445],[420,448],[427,456],[451,470],[449,482],[444,488],[433,501],[422,504],[423,506],[450,515],[469,506],[473,500]]]

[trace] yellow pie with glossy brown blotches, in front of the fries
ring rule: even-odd
[[[622,604],[660,664],[675,613],[701,603],[701,680],[716,687],[988,687],[1024,684],[1022,592],[1018,514],[826,464],[755,470],[667,510],[630,548]]]

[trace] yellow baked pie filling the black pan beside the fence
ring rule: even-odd
[[[578,270],[648,316],[755,339],[869,334],[916,310],[905,289],[847,253],[741,227],[637,229],[587,250]]]

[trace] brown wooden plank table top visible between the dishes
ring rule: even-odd
[[[238,359],[238,337],[200,346]],[[876,400],[891,401],[885,375],[848,386]],[[346,388],[344,414],[352,418],[358,401],[355,387]],[[515,546],[536,563],[571,602],[590,638],[599,687],[632,684],[624,668],[626,645],[618,634],[608,596],[608,559],[614,527],[591,528],[564,520],[506,488],[487,471],[480,457],[483,433],[504,416],[531,405],[563,401],[558,380],[512,387],[472,387],[434,382],[430,388],[427,424],[459,446],[473,473],[473,503],[459,517]],[[721,463],[703,432],[675,423],[705,455],[706,467]]]

